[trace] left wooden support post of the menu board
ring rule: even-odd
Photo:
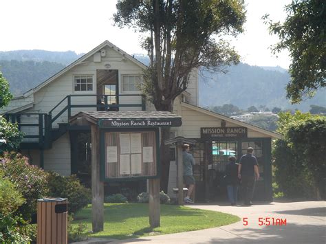
[[[104,187],[100,181],[100,131],[91,124],[91,220],[93,232],[104,225]]]

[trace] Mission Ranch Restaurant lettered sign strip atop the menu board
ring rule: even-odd
[[[119,120],[119,119],[102,119],[98,121],[100,128],[157,128],[181,126],[181,118],[173,119],[150,119],[150,120]]]

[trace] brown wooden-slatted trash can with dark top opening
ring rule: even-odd
[[[37,200],[37,244],[67,244],[68,199]]]

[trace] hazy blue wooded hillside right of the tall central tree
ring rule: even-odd
[[[199,76],[199,105],[211,107],[234,104],[240,109],[265,105],[269,109],[280,107],[301,111],[309,111],[310,104],[325,106],[326,89],[320,89],[312,99],[291,105],[285,98],[285,87],[289,80],[287,72],[265,70],[246,64],[229,67],[227,74],[203,71]]]

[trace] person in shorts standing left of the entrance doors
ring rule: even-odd
[[[189,153],[189,145],[182,145],[182,164],[184,166],[184,186],[188,186],[188,192],[184,198],[185,203],[193,203],[191,200],[191,194],[195,186],[195,178],[193,177],[193,165],[195,165],[195,159],[193,155]]]

